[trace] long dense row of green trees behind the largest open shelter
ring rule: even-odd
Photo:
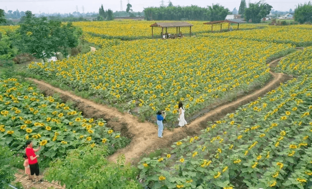
[[[224,20],[230,14],[228,8],[219,4],[208,7],[198,7],[197,5],[180,7],[148,7],[144,8],[146,20]]]

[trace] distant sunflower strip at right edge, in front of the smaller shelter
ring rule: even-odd
[[[275,43],[290,43],[295,46],[312,44],[311,29],[308,25],[300,26],[270,26],[264,29],[241,30],[223,33],[200,34],[201,36],[229,37],[231,39],[250,39]]]

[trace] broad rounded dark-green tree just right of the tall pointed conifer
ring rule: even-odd
[[[252,23],[260,23],[261,19],[270,14],[272,6],[267,3],[249,3],[249,7],[245,9],[245,18],[248,22],[250,19]]]

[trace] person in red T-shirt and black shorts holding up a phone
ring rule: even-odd
[[[36,179],[34,178],[34,174],[36,174],[38,182],[43,181],[42,178],[39,180],[39,165],[37,158],[39,155],[36,156],[35,152],[40,150],[40,146],[37,149],[32,148],[32,141],[27,140],[26,142],[27,148],[25,149],[26,155],[28,157],[28,163],[29,163],[29,168],[30,168],[30,177],[32,178],[32,182],[36,182]]]

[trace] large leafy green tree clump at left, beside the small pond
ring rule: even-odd
[[[78,37],[81,32],[67,23],[50,20],[46,17],[34,17],[31,11],[25,12],[25,21],[17,32],[21,35],[19,49],[41,58],[44,62],[52,56],[58,57],[58,52],[67,56],[66,48],[78,45]]]

